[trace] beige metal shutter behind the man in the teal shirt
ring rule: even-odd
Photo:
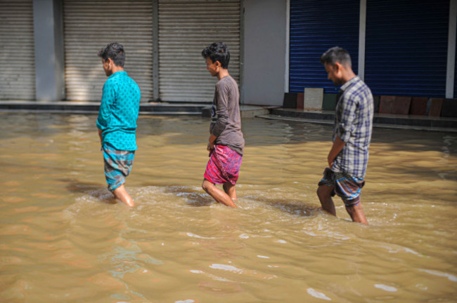
[[[153,5],[151,0],[64,0],[67,100],[100,101],[105,72],[98,51],[124,46],[124,69],[138,83],[141,102],[153,98]]]

